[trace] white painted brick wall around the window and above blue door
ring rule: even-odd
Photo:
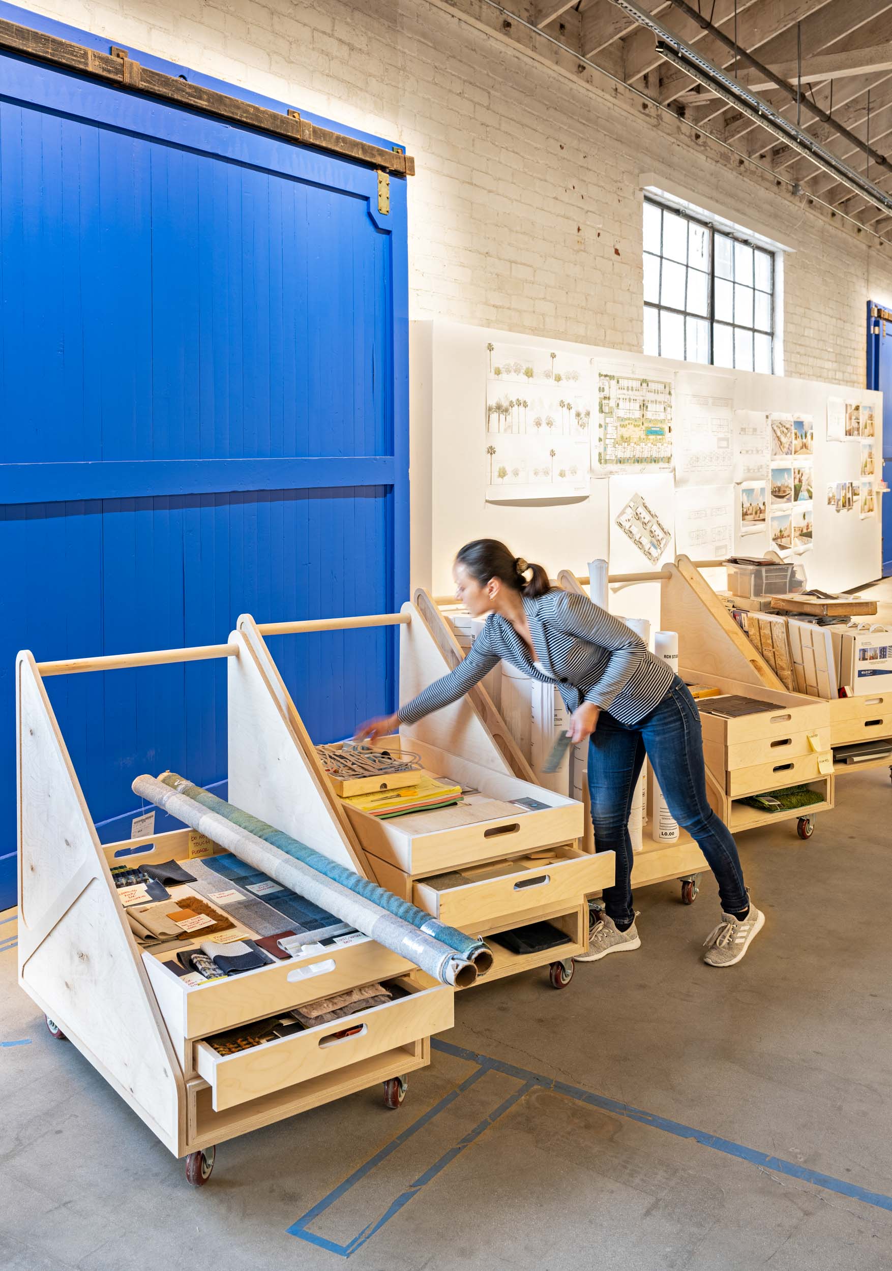
[[[643,172],[795,244],[788,375],[864,381],[878,250],[427,0],[33,0],[32,9],[404,145],[412,316],[637,351]]]

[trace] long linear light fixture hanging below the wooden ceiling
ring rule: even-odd
[[[813,137],[809,137],[807,132],[803,132],[802,128],[798,128],[794,123],[789,123],[774,107],[743,88],[742,84],[738,84],[732,75],[714,66],[693,44],[680,39],[679,36],[675,36],[667,27],[657,22],[656,18],[639,9],[638,5],[632,4],[630,0],[611,0],[611,3],[618,9],[628,13],[642,27],[647,27],[654,33],[657,37],[657,52],[667,62],[677,66],[685,75],[703,84],[710,93],[720,97],[728,105],[733,105],[736,111],[740,111],[741,114],[752,119],[753,123],[779,137],[785,145],[798,150],[799,154],[811,159],[818,168],[823,169],[828,175],[835,177],[869,203],[873,203],[874,207],[892,215],[892,198],[878,186],[874,186],[872,180],[867,180],[854,168],[842,163],[831,150],[826,150]]]

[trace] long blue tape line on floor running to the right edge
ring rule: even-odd
[[[480,1064],[484,1061],[483,1055],[475,1055],[474,1051],[465,1050],[461,1046],[455,1046],[452,1042],[432,1040],[431,1046],[435,1050],[441,1050],[445,1055],[452,1055],[456,1059],[468,1060],[469,1064]],[[485,1059],[485,1063],[490,1065],[493,1071],[502,1073],[506,1077],[516,1077],[518,1080],[529,1082],[534,1085],[541,1087],[543,1089],[554,1091],[557,1094],[565,1094],[568,1098],[576,1099],[579,1103],[587,1103],[591,1107],[601,1108],[605,1112],[612,1112],[616,1116],[626,1117],[630,1121],[639,1121],[642,1125],[649,1125],[654,1130],[663,1130],[666,1134],[673,1134],[680,1139],[693,1139],[704,1148],[712,1148],[713,1152],[722,1152],[728,1157],[737,1157],[740,1160],[748,1160],[750,1164],[761,1166],[764,1169],[771,1169],[774,1173],[785,1174],[788,1178],[799,1178],[803,1182],[813,1183],[816,1187],[823,1187],[826,1191],[836,1192],[840,1196],[849,1196],[851,1200],[860,1200],[865,1205],[874,1205],[877,1209],[892,1210],[892,1196],[886,1196],[883,1192],[868,1191],[867,1187],[858,1187],[855,1183],[846,1182],[844,1178],[834,1178],[832,1174],[822,1174],[816,1169],[807,1169],[804,1166],[797,1166],[794,1162],[784,1160],[781,1157],[770,1157],[765,1152],[756,1152],[753,1148],[746,1148],[742,1143],[734,1143],[732,1139],[722,1139],[719,1135],[708,1134],[705,1130],[695,1130],[693,1126],[682,1125],[680,1121],[670,1121],[668,1117],[654,1116],[652,1112],[643,1112],[640,1108],[632,1107],[629,1103],[620,1103],[604,1094],[595,1094],[592,1091],[585,1091],[578,1085],[569,1085],[567,1082],[557,1082],[550,1077],[541,1077],[537,1073],[530,1073],[527,1069],[516,1068],[513,1064],[503,1064],[497,1059]]]

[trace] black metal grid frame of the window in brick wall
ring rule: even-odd
[[[686,308],[687,306],[687,271],[691,269],[691,268],[696,268],[696,266],[691,266],[690,258],[685,262],[684,266],[680,264],[680,268],[685,269],[685,308],[684,309],[680,309],[677,305],[663,304],[662,299],[657,299],[656,301],[653,301],[653,300],[647,300],[647,299],[642,297],[643,299],[643,309],[645,311],[648,309],[652,309],[656,313],[656,315],[657,315],[657,350],[658,350],[658,352],[657,352],[656,356],[658,356],[658,357],[666,357],[666,356],[668,356],[668,355],[666,355],[666,353],[662,352],[662,324],[661,324],[659,314],[661,314],[662,310],[665,310],[666,313],[676,314],[679,318],[681,318],[681,322],[682,322],[682,336],[684,336],[682,348],[684,348],[684,356],[682,356],[681,361],[685,361],[685,362],[690,361],[695,366],[720,366],[722,370],[746,370],[747,367],[740,367],[740,366],[734,365],[734,358],[736,358],[736,339],[734,339],[734,333],[737,330],[745,330],[745,332],[750,333],[750,337],[751,337],[751,341],[752,341],[752,366],[751,366],[751,370],[753,372],[756,372],[756,374],[760,374],[760,375],[766,375],[766,374],[767,375],[775,375],[776,374],[776,367],[778,367],[778,352],[776,352],[776,347],[775,347],[775,343],[776,343],[776,339],[778,339],[778,315],[776,315],[776,301],[778,301],[778,292],[776,292],[776,285],[778,285],[778,261],[776,261],[776,250],[773,249],[773,248],[770,248],[770,247],[767,247],[767,245],[765,245],[764,243],[756,241],[755,238],[747,238],[745,234],[734,233],[732,229],[726,229],[723,225],[717,225],[715,221],[709,220],[708,216],[704,216],[704,215],[698,216],[696,214],[690,212],[690,211],[687,211],[684,207],[677,207],[677,206],[673,206],[670,202],[663,202],[661,198],[654,197],[652,193],[645,193],[644,198],[643,198],[642,228],[643,228],[643,224],[644,224],[645,207],[647,207],[648,203],[651,203],[653,207],[658,208],[659,212],[661,212],[661,221],[659,221],[659,252],[654,253],[654,252],[649,250],[649,248],[647,248],[644,245],[644,239],[643,239],[643,235],[642,235],[642,268],[643,268],[643,264],[644,264],[644,255],[645,254],[647,255],[656,255],[656,258],[659,261],[659,277],[658,277],[658,291],[657,291],[657,295],[659,297],[662,296],[663,263],[668,259],[670,263],[677,263],[677,264],[680,264],[680,262],[673,262],[671,259],[671,257],[667,257],[665,254],[663,248],[665,248],[665,233],[666,231],[665,231],[663,215],[666,212],[670,212],[672,216],[680,216],[686,224],[690,222],[690,224],[694,224],[694,225],[704,229],[706,231],[708,244],[709,244],[709,267],[708,267],[708,287],[706,287],[706,308],[708,308],[708,313],[705,315],[704,314],[699,314],[699,313],[694,313],[694,310]],[[718,319],[715,316],[715,281],[717,281],[717,273],[715,273],[715,235],[717,234],[722,235],[722,238],[729,239],[734,244],[740,243],[740,244],[742,244],[745,247],[748,247],[748,248],[751,248],[753,250],[753,258],[752,258],[752,263],[753,263],[752,280],[753,281],[750,285],[750,290],[752,291],[752,299],[753,299],[752,322],[751,323],[737,323],[737,322],[733,320],[733,316],[732,316],[731,322],[726,322],[726,320]],[[767,255],[769,261],[770,261],[771,276],[770,276],[770,289],[769,289],[767,292],[765,292],[762,287],[756,287],[756,257],[755,257],[756,252],[765,253],[765,255]],[[689,231],[689,249],[687,249],[687,255],[689,254],[690,254],[690,231]],[[703,273],[703,272],[706,272],[706,271],[699,271],[699,272]],[[736,286],[736,282],[734,282],[734,278],[733,278],[733,273],[734,272],[736,272],[736,269],[732,267],[732,278],[731,280],[722,280],[722,281],[729,281],[731,287],[732,287],[732,296],[733,296],[733,287]],[[762,295],[767,294],[770,296],[771,304],[770,304],[770,325],[769,325],[769,328],[757,327],[756,325],[756,292],[760,292]],[[732,315],[733,315],[733,308],[732,308]],[[705,322],[706,323],[708,333],[709,333],[708,334],[708,338],[709,338],[708,355],[709,356],[708,356],[708,361],[706,362],[701,362],[701,361],[698,361],[695,358],[690,358],[687,356],[687,319],[689,318],[693,318],[696,322]],[[731,332],[732,366],[729,366],[729,367],[726,367],[723,364],[717,364],[715,362],[715,327],[717,325],[722,327],[722,328],[727,328]],[[770,351],[771,351],[771,369],[770,369],[770,371],[756,371],[756,336],[767,336],[769,337]]]

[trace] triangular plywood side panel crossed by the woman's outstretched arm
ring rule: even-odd
[[[407,600],[400,611],[409,614],[412,619],[400,627],[399,643],[399,700],[405,705],[435,680],[447,675],[452,667],[417,605]],[[496,713],[494,707],[493,712]],[[449,707],[424,716],[413,723],[409,731],[413,737],[428,746],[436,746],[451,755],[461,755],[463,759],[490,771],[515,775],[492,732],[466,695]],[[524,779],[535,780],[532,774]]]

